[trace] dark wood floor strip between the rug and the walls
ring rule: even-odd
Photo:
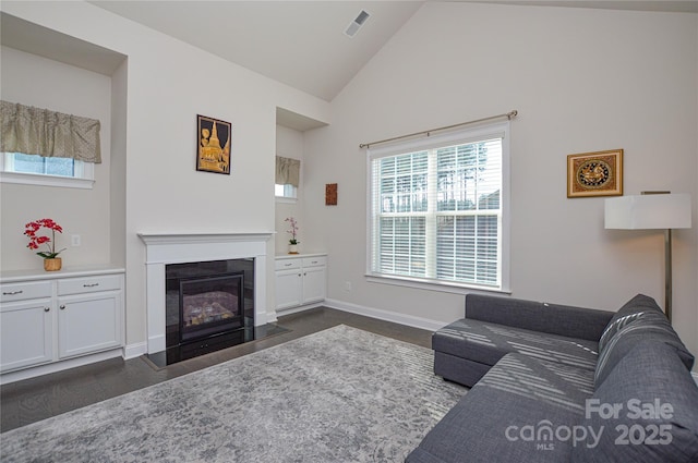
[[[129,361],[112,358],[2,386],[0,430],[4,432],[341,324],[425,348],[431,346],[431,331],[318,307],[279,317],[278,325],[289,329],[288,332],[214,352],[159,370],[143,357]]]

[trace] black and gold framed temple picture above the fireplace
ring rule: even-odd
[[[196,115],[196,170],[230,175],[232,124],[206,115]]]

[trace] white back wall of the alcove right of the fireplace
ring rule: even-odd
[[[297,200],[290,199],[277,199],[276,200],[276,236],[275,236],[275,251],[276,254],[286,254],[288,252],[288,241],[291,235],[286,231],[290,229],[289,222],[286,222],[287,217],[293,217],[300,227],[304,224],[303,217],[303,169],[305,168],[305,161],[303,160],[303,133],[293,129],[285,127],[282,125],[276,126],[276,155],[285,158],[299,159],[301,161],[301,185],[299,186],[299,197]],[[300,242],[299,249],[306,249],[309,243],[303,240],[303,230],[299,231],[298,240]]]

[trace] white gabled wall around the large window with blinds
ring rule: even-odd
[[[662,233],[606,231],[603,198],[566,197],[567,155],[623,148],[626,194],[693,195],[695,226],[674,234],[674,327],[698,352],[697,34],[696,14],[425,3],[333,100],[332,125],[305,134],[309,198],[339,183],[335,208],[305,205],[305,239],[332,256],[329,297],[396,318],[462,316],[462,295],[365,281],[359,144],[516,109],[512,295],[663,303]]]

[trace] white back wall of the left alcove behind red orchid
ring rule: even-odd
[[[101,123],[101,163],[95,165],[93,190],[0,184],[2,221],[0,254],[3,269],[43,269],[43,259],[29,251],[24,224],[56,220],[57,249],[63,266],[110,261],[110,143],[111,78],[53,60],[2,47],[2,99],[58,112],[98,119]],[[71,247],[71,235],[82,245]]]

